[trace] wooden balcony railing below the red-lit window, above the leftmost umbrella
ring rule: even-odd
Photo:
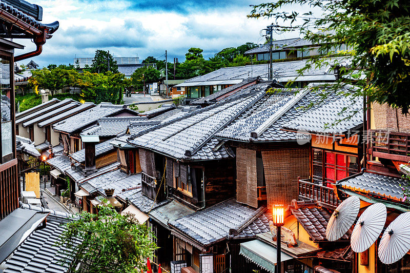
[[[299,179],[299,197],[316,200],[322,205],[336,208],[341,201],[337,198],[334,188],[321,186]]]

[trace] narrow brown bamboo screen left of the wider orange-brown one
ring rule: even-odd
[[[236,170],[236,201],[257,208],[256,151],[237,148]]]

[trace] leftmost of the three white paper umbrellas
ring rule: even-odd
[[[329,241],[340,239],[356,220],[360,209],[360,199],[351,196],[344,200],[333,212],[326,227],[326,238]]]

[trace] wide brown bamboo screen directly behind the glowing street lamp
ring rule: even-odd
[[[298,199],[298,177],[309,178],[309,149],[262,151],[268,207]]]

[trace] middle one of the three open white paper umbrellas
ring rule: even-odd
[[[387,210],[382,203],[366,208],[353,228],[350,244],[355,252],[363,252],[371,247],[379,237],[386,223]]]

